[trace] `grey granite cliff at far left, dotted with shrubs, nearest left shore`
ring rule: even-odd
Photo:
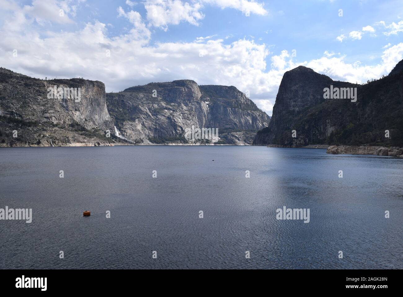
[[[76,88],[76,97],[63,92],[58,98],[50,92],[54,86]],[[0,69],[0,112],[1,146],[111,142],[104,138],[105,130],[113,132],[113,121],[100,81],[42,80]]]

